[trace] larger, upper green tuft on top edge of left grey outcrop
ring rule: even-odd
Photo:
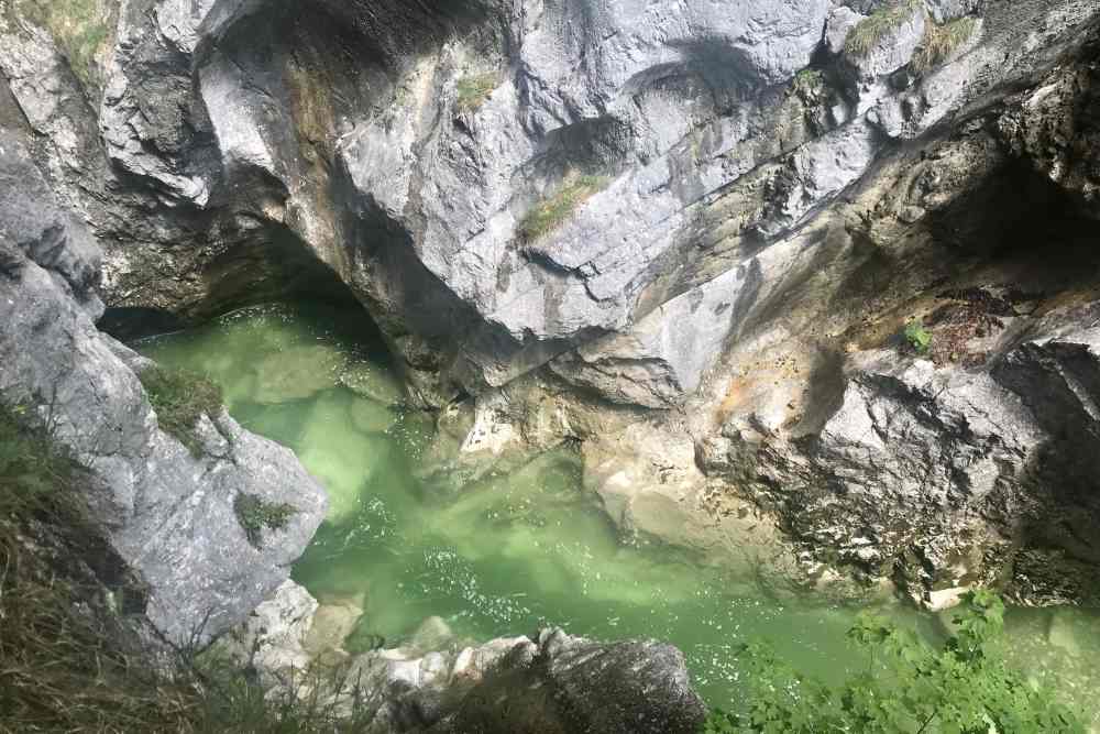
[[[162,366],[142,370],[138,376],[161,429],[175,436],[191,456],[201,456],[196,427],[204,414],[215,418],[221,413],[221,387],[194,372]]]

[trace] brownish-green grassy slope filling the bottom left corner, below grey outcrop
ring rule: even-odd
[[[33,417],[0,404],[0,733],[365,730],[346,664],[290,670],[287,689],[268,691],[215,650],[150,657],[110,601],[131,587],[107,593],[92,571],[121,561],[89,519],[84,470]]]

